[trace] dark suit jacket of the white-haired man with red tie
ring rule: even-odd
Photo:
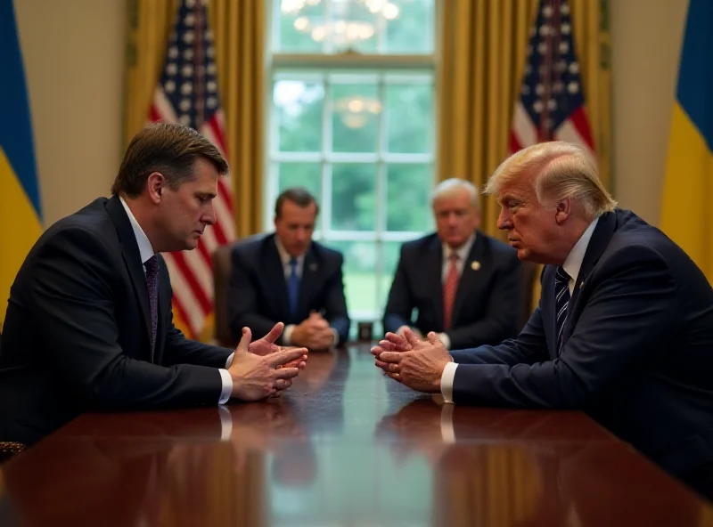
[[[476,261],[477,271],[471,267]],[[414,308],[418,310],[415,327],[424,335],[443,331],[442,269],[443,246],[437,234],[401,247],[384,311],[385,331],[413,326]],[[452,328],[446,331],[451,348],[496,344],[517,335],[522,302],[517,252],[478,232],[455,293]]]

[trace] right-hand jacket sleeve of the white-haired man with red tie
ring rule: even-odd
[[[521,275],[517,255],[507,255],[506,263],[495,277],[485,317],[446,332],[451,349],[496,344],[517,334],[523,298]]]

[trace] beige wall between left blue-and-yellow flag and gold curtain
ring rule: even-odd
[[[125,0],[14,0],[45,225],[119,168]]]

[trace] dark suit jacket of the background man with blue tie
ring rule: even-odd
[[[239,242],[231,260],[228,320],[235,338],[240,338],[245,326],[259,337],[277,322],[299,324],[309,317],[310,311],[324,310],[324,318],[339,333],[340,343],[348,339],[349,318],[341,275],[344,257],[339,251],[312,242],[305,255],[294,316],[290,312],[287,280],[275,234]]]

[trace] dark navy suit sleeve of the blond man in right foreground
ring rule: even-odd
[[[650,247],[637,246],[611,260],[605,278],[593,285],[590,277],[594,290],[558,359],[459,365],[454,401],[581,409],[659,347],[677,324],[667,263]]]

